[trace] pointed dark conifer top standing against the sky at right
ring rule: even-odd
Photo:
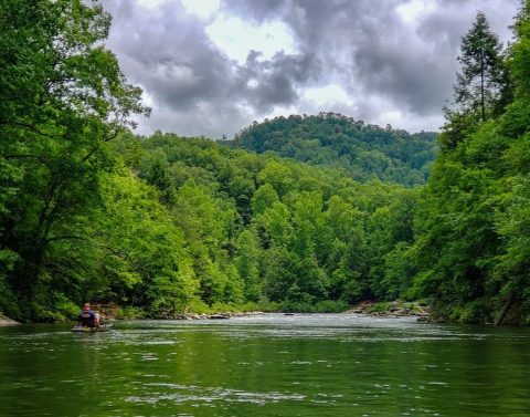
[[[507,84],[502,63],[502,45],[479,11],[475,23],[462,38],[462,73],[457,74],[455,102],[464,112],[478,112],[486,121],[492,105],[500,100]]]

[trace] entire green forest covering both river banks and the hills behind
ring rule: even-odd
[[[135,135],[131,115],[149,108],[104,45],[100,7],[7,0],[0,23],[7,315],[404,299],[434,319],[529,322],[530,1],[506,50],[477,14],[437,143],[336,114],[229,143]]]

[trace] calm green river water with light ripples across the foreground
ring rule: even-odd
[[[529,416],[530,329],[356,315],[0,327],[0,416]]]

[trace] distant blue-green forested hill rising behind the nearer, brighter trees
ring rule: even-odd
[[[337,113],[292,115],[254,122],[229,144],[258,154],[267,150],[296,160],[346,168],[361,181],[381,179],[424,184],[436,157],[436,134],[364,124]]]

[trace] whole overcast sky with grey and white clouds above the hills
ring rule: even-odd
[[[137,132],[232,138],[341,113],[437,131],[478,10],[506,44],[518,0],[103,0],[107,46],[151,106]]]

